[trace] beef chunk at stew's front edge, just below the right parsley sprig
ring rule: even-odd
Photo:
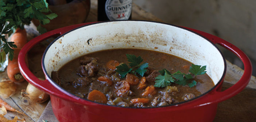
[[[156,96],[151,102],[152,106],[164,106],[173,103],[174,99],[171,97],[168,91],[160,91],[160,95]]]

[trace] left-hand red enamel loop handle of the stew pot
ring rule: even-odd
[[[95,22],[92,22],[95,23]],[[88,25],[88,24],[92,24],[92,23],[82,23],[82,24],[76,24],[76,25],[70,25],[67,27],[63,27],[63,28],[59,28],[59,29],[55,29],[53,31],[49,31],[47,33],[41,34],[35,38],[33,38],[32,40],[30,40],[29,42],[27,42],[26,45],[23,46],[23,48],[20,50],[19,56],[18,56],[18,64],[19,64],[19,69],[20,69],[20,73],[22,74],[22,76],[28,81],[30,82],[30,84],[34,85],[36,88],[45,91],[48,94],[53,94],[55,96],[59,96],[59,97],[63,97],[66,98],[65,95],[63,94],[63,92],[65,93],[65,90],[62,89],[56,89],[55,86],[53,84],[51,84],[47,79],[42,81],[39,80],[29,69],[28,66],[26,64],[25,61],[25,56],[28,53],[28,51],[35,46],[36,44],[46,40],[47,38],[50,37],[54,37],[54,36],[60,36],[72,29],[84,26],[84,25]],[[69,93],[67,93],[69,94]],[[71,95],[71,94],[69,94]],[[70,96],[68,96],[70,97]],[[78,97],[77,97],[78,99]]]

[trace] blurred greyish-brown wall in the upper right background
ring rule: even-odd
[[[133,0],[166,23],[214,34],[256,60],[256,0]]]

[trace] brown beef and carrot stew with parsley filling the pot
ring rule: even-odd
[[[76,58],[52,79],[81,98],[123,107],[166,106],[193,99],[214,84],[206,66],[152,50],[111,49]]]

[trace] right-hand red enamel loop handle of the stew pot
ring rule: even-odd
[[[207,98],[205,97],[204,104],[206,103],[215,103],[215,102],[221,102],[226,99],[229,99],[233,97],[234,95],[238,94],[240,91],[242,91],[249,83],[251,76],[252,76],[252,64],[247,55],[240,49],[238,49],[233,44],[229,43],[228,41],[223,40],[222,38],[219,38],[217,36],[214,36],[209,33],[205,33],[202,31],[198,31],[195,29],[183,27],[186,29],[189,29],[195,33],[200,34],[201,36],[207,38],[208,40],[212,41],[214,44],[218,44],[226,49],[228,49],[230,52],[236,54],[241,61],[244,64],[244,74],[240,78],[240,80],[231,86],[230,88],[226,89],[225,91],[214,91],[209,94],[209,97],[207,95]]]

